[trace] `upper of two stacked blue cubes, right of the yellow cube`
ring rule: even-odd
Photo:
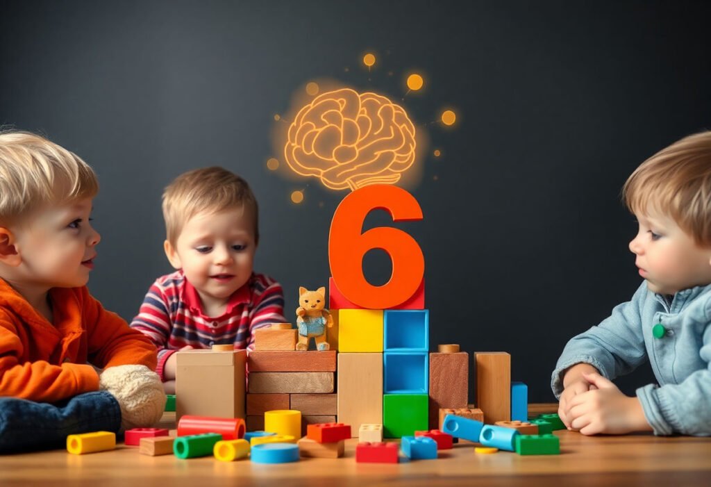
[[[427,352],[428,309],[386,309],[383,317],[383,351]]]

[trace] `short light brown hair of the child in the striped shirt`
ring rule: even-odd
[[[259,242],[259,208],[247,181],[225,168],[193,169],[178,176],[163,193],[166,238],[173,246],[183,225],[198,213],[219,213],[241,206],[254,219],[255,243]]]

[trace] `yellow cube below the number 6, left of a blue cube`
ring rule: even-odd
[[[382,309],[338,310],[339,352],[382,352]]]

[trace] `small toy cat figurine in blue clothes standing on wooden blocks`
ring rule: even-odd
[[[316,340],[316,350],[328,350],[331,346],[326,341],[326,326],[333,326],[333,316],[325,309],[326,288],[319,287],[309,291],[299,287],[299,307],[296,308],[296,326],[299,328],[299,343],[296,350],[309,350],[309,339]]]

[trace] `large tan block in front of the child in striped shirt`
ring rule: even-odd
[[[183,414],[244,419],[246,367],[246,350],[177,352],[176,423]]]

